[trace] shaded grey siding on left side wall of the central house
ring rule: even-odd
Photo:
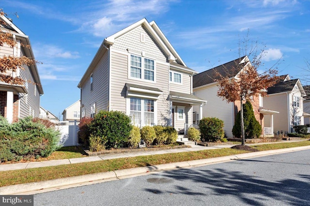
[[[91,91],[90,75],[81,86],[81,111],[85,109],[85,117],[91,116],[91,105],[96,104],[96,113],[108,110],[109,107],[109,51],[107,50],[93,70],[93,91]],[[82,112],[81,112],[82,115]]]

